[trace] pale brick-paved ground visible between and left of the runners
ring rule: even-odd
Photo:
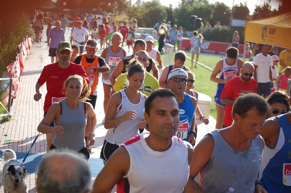
[[[45,30],[44,30],[45,32]],[[65,37],[68,40],[70,31],[66,31]],[[43,105],[46,95],[46,85],[41,88],[42,99],[38,102],[33,100],[35,93],[35,83],[39,78],[43,67],[50,64],[50,57],[48,56],[49,48],[45,43],[46,37],[42,39],[41,43],[33,43],[30,54],[24,62],[24,71],[20,77],[17,97],[13,101],[13,115],[11,120],[5,123],[0,123],[0,149],[10,148],[16,152],[26,153],[35,139],[37,126],[43,118]],[[126,51],[127,48],[125,47]],[[97,55],[101,55],[101,51],[97,51]],[[101,82],[101,81],[100,81]],[[103,145],[103,140],[106,134],[106,129],[101,124],[104,118],[103,113],[103,87],[102,84],[98,87],[98,98],[96,104],[97,113],[97,129],[96,143],[92,146],[91,158],[99,158],[100,150]],[[210,117],[210,124],[198,123],[198,137],[202,138],[207,132],[212,130],[215,126],[215,119]],[[5,139],[20,139],[20,143],[5,143]],[[46,153],[46,137],[40,134],[35,145],[32,147],[31,153],[45,154]],[[97,167],[101,167],[98,165]],[[35,174],[28,174],[27,185],[29,193],[35,193]],[[0,188],[0,193],[3,193],[3,188]]]

